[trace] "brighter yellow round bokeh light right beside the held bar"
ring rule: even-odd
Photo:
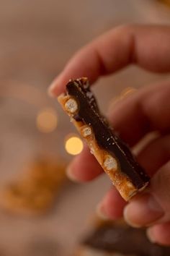
[[[76,135],[71,135],[66,138],[65,149],[68,154],[78,155],[83,150],[84,145],[82,140]]]

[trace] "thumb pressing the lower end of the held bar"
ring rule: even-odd
[[[147,192],[133,198],[124,209],[130,226],[151,226],[170,221],[170,161],[151,179]]]

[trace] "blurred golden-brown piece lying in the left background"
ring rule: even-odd
[[[45,155],[37,158],[26,168],[23,176],[0,190],[0,207],[24,216],[46,213],[66,182],[65,168],[62,161]]]

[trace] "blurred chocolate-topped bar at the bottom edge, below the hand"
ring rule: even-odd
[[[146,229],[105,222],[81,241],[76,256],[169,256],[170,247],[151,243]]]

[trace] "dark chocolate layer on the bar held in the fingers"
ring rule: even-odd
[[[92,127],[95,139],[100,148],[109,151],[117,158],[120,170],[128,176],[130,181],[140,189],[149,178],[143,168],[135,161],[130,149],[120,140],[109,128],[104,117],[99,113],[97,101],[91,93],[89,87],[84,87],[82,80],[73,80],[66,85],[67,92],[79,104],[79,111],[73,116],[76,121],[84,121]]]

